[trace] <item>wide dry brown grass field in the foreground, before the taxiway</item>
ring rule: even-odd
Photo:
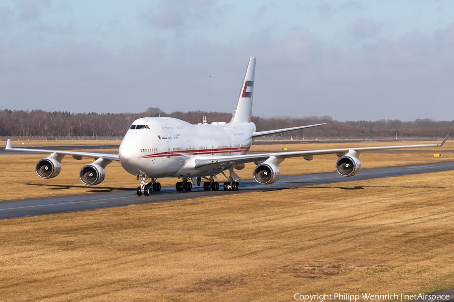
[[[452,287],[453,172],[0,221],[5,301]]]

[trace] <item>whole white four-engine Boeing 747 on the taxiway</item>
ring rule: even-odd
[[[7,140],[5,150],[51,153],[36,164],[36,174],[42,178],[58,176],[62,170],[62,159],[67,155],[76,160],[93,158],[95,161],[82,167],[79,173],[80,180],[86,185],[101,183],[105,177],[105,167],[112,161],[120,161],[128,173],[137,176],[140,181],[137,195],[141,196],[159,191],[161,185],[157,180],[163,177],[180,179],[176,185],[177,191],[191,191],[192,184],[200,186],[202,179],[205,191],[218,190],[219,183],[215,179],[219,174],[226,179],[223,183],[224,191],[237,191],[240,188],[240,178],[235,170],[241,170],[246,163],[252,162],[256,165],[253,172],[255,180],[263,185],[272,184],[279,178],[278,166],[283,160],[303,157],[311,161],[314,156],[323,154],[337,155],[337,172],[342,176],[354,176],[361,170],[358,158],[363,151],[442,146],[448,137],[440,144],[247,154],[256,137],[324,125],[256,131],[255,124],[251,122],[255,61],[255,57],[249,58],[237,106],[229,123],[192,125],[171,117],[140,118],[126,131],[118,155],[12,148],[10,139]],[[225,174],[226,171],[229,171],[229,175]]]

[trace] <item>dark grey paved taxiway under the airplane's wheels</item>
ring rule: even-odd
[[[454,162],[432,163],[389,168],[363,169],[353,177],[343,177],[336,172],[281,176],[271,185],[260,185],[253,180],[240,181],[240,191],[203,191],[202,187],[193,187],[190,192],[177,192],[174,187],[164,187],[160,192],[152,192],[150,196],[137,196],[136,190],[50,197],[0,202],[0,219],[33,215],[55,214],[71,211],[83,211],[130,204],[154,203],[205,196],[226,196],[230,194],[248,193],[267,190],[282,190],[295,187],[308,187],[320,184],[349,182],[372,178],[412,175],[428,172],[454,170]],[[62,184],[64,185],[64,184]],[[396,184],[393,184],[394,186]],[[443,186],[440,183],[440,186]],[[103,189],[102,184],[96,186]],[[361,188],[355,188],[361,189]]]

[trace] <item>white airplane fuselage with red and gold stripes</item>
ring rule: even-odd
[[[139,129],[125,134],[120,162],[129,173],[150,178],[216,175],[221,169],[195,169],[194,159],[246,154],[256,130],[254,123],[192,125],[171,117],[140,118],[131,127]]]

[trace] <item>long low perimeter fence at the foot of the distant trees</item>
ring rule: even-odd
[[[2,140],[123,140],[123,136],[0,136]],[[372,139],[397,139],[397,140],[440,140],[443,137],[420,136],[262,136],[255,140],[372,140]],[[449,140],[453,138],[450,137]]]

